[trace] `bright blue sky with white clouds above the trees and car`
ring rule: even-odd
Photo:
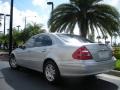
[[[0,13],[10,14],[10,1],[0,0]],[[48,30],[47,22],[50,17],[51,5],[47,2],[54,3],[54,8],[62,3],[69,3],[69,0],[14,0],[13,27],[20,25],[20,29],[25,27],[25,17],[27,23],[43,24],[43,28]],[[120,12],[120,0],[104,0],[103,3],[114,6]],[[1,17],[3,31],[3,17]],[[9,16],[6,17],[6,32],[9,28]]]

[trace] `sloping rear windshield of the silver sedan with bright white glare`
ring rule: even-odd
[[[64,43],[67,43],[67,44],[94,43],[78,35],[69,35],[69,34],[57,34],[57,35],[60,37],[60,39]]]

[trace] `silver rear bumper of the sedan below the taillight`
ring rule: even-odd
[[[108,60],[102,62],[89,62],[80,63],[65,63],[59,66],[61,76],[87,76],[103,72],[108,72],[114,69],[115,60]]]

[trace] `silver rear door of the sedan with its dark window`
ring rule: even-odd
[[[47,35],[40,35],[35,38],[34,46],[31,48],[29,62],[32,68],[42,70],[43,62],[52,46],[52,40]]]

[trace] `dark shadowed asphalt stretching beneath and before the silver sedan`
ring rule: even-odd
[[[118,90],[117,85],[97,77],[64,78],[59,85],[51,85],[41,73],[33,70],[8,67],[1,72],[13,90]]]

